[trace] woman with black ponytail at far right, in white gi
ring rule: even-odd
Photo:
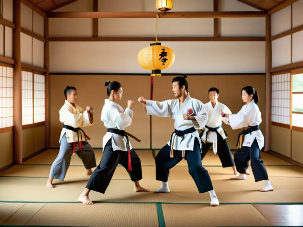
[[[255,182],[265,180],[265,187],[261,192],[274,190],[271,186],[267,171],[261,160],[261,149],[264,146],[264,137],[259,128],[262,122],[261,112],[258,107],[259,96],[257,91],[251,86],[243,87],[241,97],[246,104],[236,114],[221,113],[223,117],[229,119],[232,129],[242,128],[238,136],[237,151],[234,156],[236,168],[240,175],[239,179],[246,179],[245,172],[250,160],[252,173]]]

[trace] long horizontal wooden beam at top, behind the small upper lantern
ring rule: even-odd
[[[48,18],[156,18],[155,12],[47,12]],[[267,12],[159,12],[160,18],[260,18]]]

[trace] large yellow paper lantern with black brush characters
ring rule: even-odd
[[[174,61],[174,51],[161,46],[160,42],[151,43],[138,53],[139,64],[142,68],[151,70],[151,76],[161,76],[161,70],[171,67]]]

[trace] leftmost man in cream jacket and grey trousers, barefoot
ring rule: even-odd
[[[53,179],[64,180],[71,162],[72,154],[79,156],[86,169],[86,175],[96,167],[96,158],[92,146],[87,142],[90,138],[81,129],[93,124],[93,108],[83,110],[76,104],[78,92],[75,87],[66,86],[65,103],[59,110],[60,122],[63,123],[59,143],[60,150],[52,164],[46,187],[53,188]]]

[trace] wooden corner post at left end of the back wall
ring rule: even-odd
[[[50,147],[50,119],[49,119],[49,35],[48,18],[44,18],[44,68],[45,68],[45,148]]]

